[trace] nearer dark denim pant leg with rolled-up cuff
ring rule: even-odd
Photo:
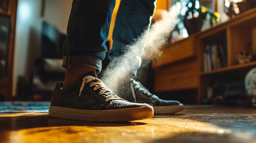
[[[101,71],[115,0],[73,0],[63,46],[63,67],[84,64]]]

